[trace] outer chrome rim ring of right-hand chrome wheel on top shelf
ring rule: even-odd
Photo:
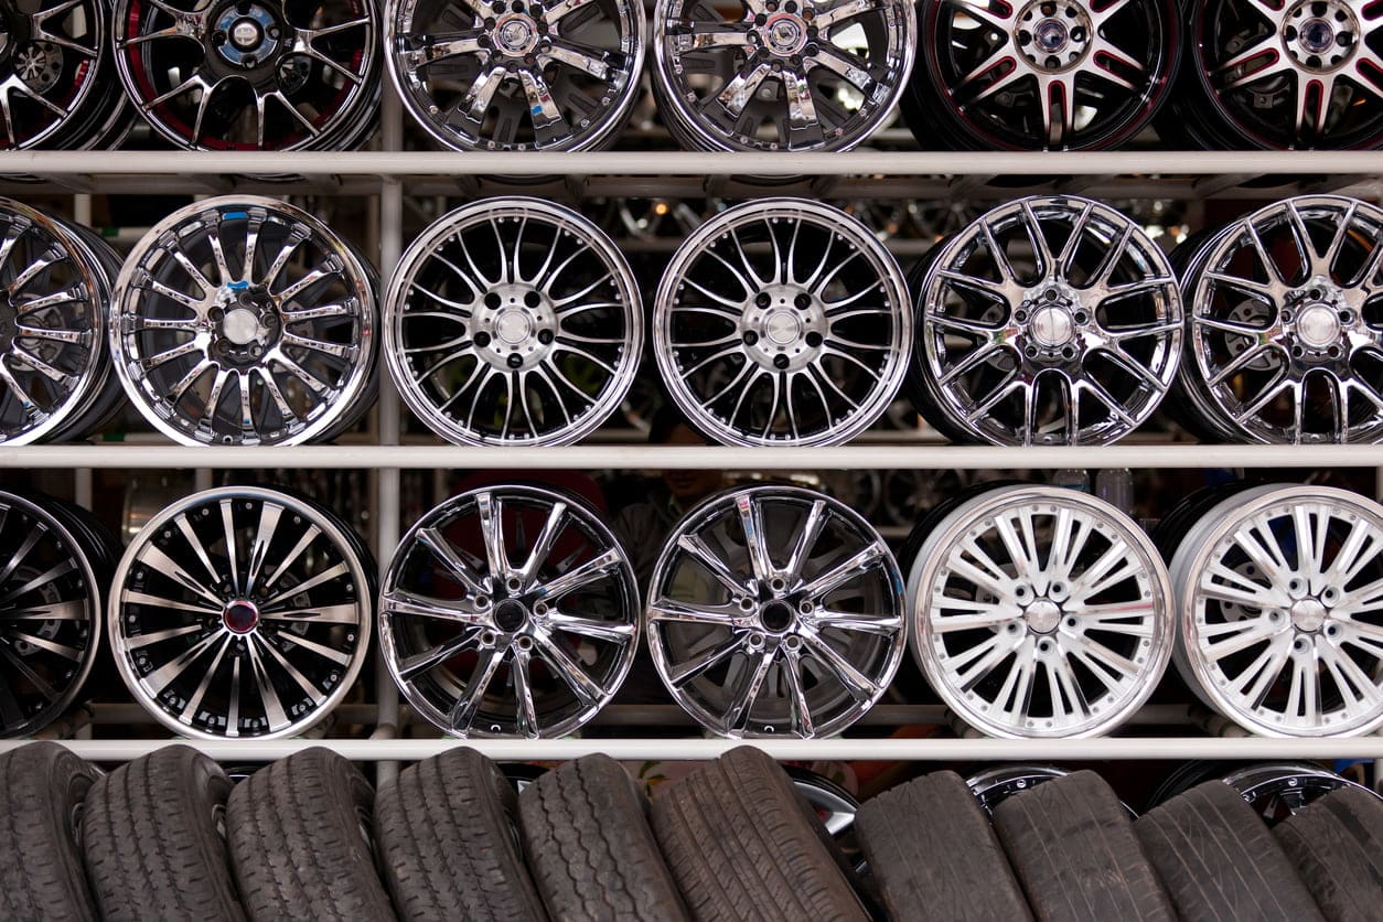
[[[842,0],[844,1],[844,0]],[[679,93],[678,87],[674,86],[672,79],[672,58],[676,55],[668,48],[668,33],[667,23],[671,14],[674,3],[686,4],[687,0],[657,0],[653,10],[653,91],[658,101],[660,108],[672,115],[672,122],[678,124],[678,130],[672,130],[669,124],[669,131],[672,137],[679,141],[679,144],[686,144],[686,141],[693,141],[696,148],[703,148],[708,151],[750,151],[757,153],[777,153],[786,152],[788,148],[769,149],[766,147],[755,147],[745,144],[736,144],[733,140],[722,135],[719,131],[709,129],[704,120],[698,119],[694,113],[687,111],[687,106]],[[899,68],[888,94],[877,104],[874,116],[869,123],[860,127],[860,130],[853,134],[842,135],[835,144],[819,144],[810,148],[797,148],[798,151],[849,151],[870,137],[875,131],[880,131],[885,122],[888,122],[888,115],[893,112],[898,106],[899,100],[903,97],[903,91],[907,88],[909,82],[913,76],[913,65],[917,59],[917,10],[913,6],[913,0],[881,0],[881,7],[884,4],[893,6],[898,14],[899,22]],[[869,64],[866,61],[866,64]],[[683,140],[685,138],[685,140]]]

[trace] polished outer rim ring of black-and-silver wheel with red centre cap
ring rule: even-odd
[[[332,688],[331,694],[322,698],[322,704],[314,708],[311,713],[289,723],[281,730],[254,735],[227,737],[220,733],[207,733],[206,730],[198,730],[196,727],[191,727],[180,722],[171,713],[165,711],[155,698],[144,691],[144,684],[140,680],[140,676],[134,673],[130,658],[123,650],[124,636],[120,630],[120,596],[124,592],[124,581],[129,579],[130,570],[137,563],[138,552],[142,550],[154,539],[159,529],[162,529],[174,516],[198,506],[220,502],[221,499],[250,499],[263,503],[277,503],[284,510],[292,510],[293,514],[301,516],[306,521],[317,525],[322,535],[335,546],[336,553],[340,554],[342,560],[346,561],[346,565],[350,568],[351,579],[355,581],[355,585],[361,589],[361,592],[355,594],[355,607],[360,610],[360,621],[357,622],[358,637],[355,639],[355,650],[351,659],[342,670],[342,680],[336,683],[336,687]],[[369,658],[369,634],[371,626],[375,621],[375,599],[369,592],[369,571],[365,568],[365,561],[361,560],[357,550],[358,542],[358,538],[347,535],[344,525],[336,521],[336,516],[333,513],[326,511],[315,502],[299,499],[297,496],[281,493],[277,489],[268,489],[266,487],[216,487],[192,493],[191,496],[184,496],[171,506],[165,507],[158,516],[145,523],[144,528],[140,529],[140,534],[130,540],[124,553],[120,556],[119,565],[115,568],[115,576],[111,578],[111,594],[106,605],[106,629],[111,632],[111,658],[115,659],[116,670],[120,673],[120,679],[124,681],[126,688],[130,690],[134,699],[151,716],[180,737],[234,742],[236,740],[282,740],[285,737],[307,733],[336,709],[336,705],[346,697],[346,693],[355,686],[355,679],[360,676],[361,668]]]

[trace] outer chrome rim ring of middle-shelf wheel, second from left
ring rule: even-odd
[[[343,283],[351,289],[355,300],[360,301],[360,311],[355,315],[355,325],[358,330],[358,355],[350,373],[337,387],[339,394],[332,399],[331,405],[322,411],[317,420],[304,426],[300,433],[278,441],[260,441],[254,445],[301,445],[304,442],[322,438],[324,435],[333,434],[339,426],[344,426],[353,419],[353,412],[361,408],[365,395],[369,393],[369,386],[375,380],[375,366],[378,364],[379,352],[378,339],[375,336],[375,329],[379,326],[379,304],[375,297],[375,292],[379,285],[375,276],[375,270],[355,252],[354,246],[337,236],[335,231],[318,221],[313,214],[278,199],[261,195],[220,195],[201,202],[192,202],[151,227],[124,257],[124,263],[120,267],[120,275],[116,278],[115,286],[111,292],[109,321],[106,323],[111,364],[115,365],[115,372],[120,379],[120,386],[124,388],[126,397],[134,408],[140,411],[140,415],[148,420],[151,426],[154,426],[154,429],[180,445],[191,445],[194,448],[224,446],[203,442],[194,435],[189,435],[181,427],[171,424],[148,399],[148,391],[145,390],[145,382],[148,382],[148,377],[141,376],[140,379],[136,379],[130,373],[130,357],[126,354],[124,335],[120,328],[123,326],[122,321],[126,315],[140,314],[140,311],[133,308],[137,307],[145,297],[145,294],[134,286],[134,275],[136,271],[141,270],[145,257],[160,247],[159,238],[167,234],[176,235],[177,228],[185,221],[198,218],[207,211],[224,214],[227,210],[249,210],[253,207],[266,209],[271,213],[277,213],[279,217],[288,218],[289,223],[297,221],[307,227],[313,234],[310,238],[311,242],[317,243],[324,250],[331,250],[333,256],[344,263],[339,275],[342,276]],[[131,333],[131,336],[134,336],[134,333]],[[263,368],[263,362],[256,364],[254,368]],[[178,419],[183,417],[181,415],[176,416]],[[239,442],[230,445],[230,448],[239,446],[242,446]]]

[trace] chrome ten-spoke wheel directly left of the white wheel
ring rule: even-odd
[[[647,629],[672,697],[725,737],[828,737],[902,659],[902,575],[855,510],[797,487],[712,496],[653,571]]]

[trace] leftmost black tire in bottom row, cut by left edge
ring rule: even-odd
[[[0,756],[0,918],[97,919],[73,827],[100,777],[55,742]]]

